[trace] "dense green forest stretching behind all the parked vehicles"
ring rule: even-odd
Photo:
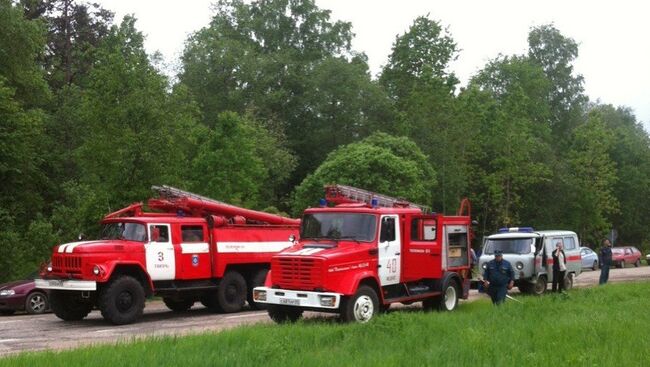
[[[375,78],[353,37],[312,0],[220,0],[170,77],[133,17],[0,0],[0,281],[159,184],[292,216],[326,183],[444,213],[469,197],[479,239],[531,225],[650,249],[648,133],[588,99],[554,25],[465,87],[440,20],[414,19]]]

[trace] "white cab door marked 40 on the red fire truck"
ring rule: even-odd
[[[379,281],[381,286],[397,284],[400,281],[402,267],[402,241],[399,217],[384,215],[381,217],[379,231]]]

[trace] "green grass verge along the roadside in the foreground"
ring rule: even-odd
[[[366,325],[316,319],[28,353],[0,366],[643,365],[649,293],[650,282],[610,284],[452,313],[393,311]]]

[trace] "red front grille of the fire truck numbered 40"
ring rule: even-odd
[[[323,286],[322,260],[305,257],[276,257],[271,264],[274,286],[314,290]]]

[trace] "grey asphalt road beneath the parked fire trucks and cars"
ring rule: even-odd
[[[575,286],[596,285],[599,275],[600,271],[585,271],[576,278]],[[610,271],[612,283],[637,280],[650,280],[649,266],[612,268]],[[470,293],[470,301],[480,297],[487,296],[476,291]],[[307,317],[315,315],[318,314],[306,314]],[[134,338],[219,331],[240,325],[269,322],[271,321],[265,311],[214,314],[197,303],[190,311],[176,314],[169,311],[161,301],[148,302],[143,319],[136,324],[124,326],[107,323],[99,311],[93,311],[86,319],[77,322],[64,322],[51,313],[39,316],[2,316],[0,357],[23,351],[68,349],[90,344],[130,341]]]

